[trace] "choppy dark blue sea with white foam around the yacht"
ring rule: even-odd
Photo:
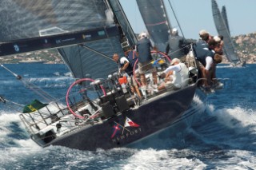
[[[56,98],[64,97],[74,81],[65,65],[6,67]],[[0,104],[0,169],[256,169],[254,70],[256,65],[219,65],[217,76],[225,86],[208,96],[206,112],[190,128],[151,137],[144,148],[40,148],[26,133],[20,108]],[[0,82],[0,95],[9,101],[26,105],[40,99],[3,68]]]

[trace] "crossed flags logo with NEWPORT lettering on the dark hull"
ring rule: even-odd
[[[140,132],[142,132],[142,128],[139,128],[140,126],[136,124],[134,121],[131,121],[130,118],[126,117],[126,120],[124,122],[124,125],[120,125],[117,122],[114,122],[113,126],[113,132],[111,135],[112,142],[117,142],[119,140],[124,140],[130,136],[134,136]],[[128,128],[134,128],[133,130],[130,130]]]

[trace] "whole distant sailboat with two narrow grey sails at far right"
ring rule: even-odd
[[[230,27],[228,24],[228,19],[226,16],[226,7],[222,7],[222,13],[218,8],[218,4],[216,0],[212,0],[212,12],[214,17],[214,23],[218,32],[218,35],[223,36],[224,42],[224,53],[228,61],[230,61],[233,66],[244,66],[246,65],[246,61],[241,61],[238,57],[238,53],[236,53],[234,48],[234,43],[230,37]]]

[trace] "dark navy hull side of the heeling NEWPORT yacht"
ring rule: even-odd
[[[189,108],[195,90],[196,86],[193,85],[174,93],[163,93],[138,109],[128,110],[100,125],[79,128],[52,140],[44,147],[52,144],[80,150],[96,150],[123,147],[142,140],[181,118]],[[138,126],[125,127],[126,117]]]

